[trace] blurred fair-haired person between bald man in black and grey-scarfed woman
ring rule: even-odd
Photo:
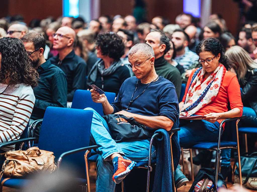
[[[82,58],[87,62],[87,75],[92,69],[93,65],[95,65],[98,58],[95,54],[95,33],[89,29],[84,29],[79,31],[78,38],[82,40],[81,53],[84,55]],[[85,57],[87,53],[87,57]]]

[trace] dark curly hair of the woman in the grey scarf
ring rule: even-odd
[[[122,38],[113,32],[98,34],[96,47],[100,48],[102,55],[107,55],[115,60],[124,55],[125,46]]]

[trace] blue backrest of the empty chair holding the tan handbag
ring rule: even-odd
[[[45,111],[38,147],[52,151],[57,158],[63,153],[90,144],[93,111],[48,107]],[[63,158],[61,168],[71,168],[78,177],[85,178],[84,153],[79,152]]]

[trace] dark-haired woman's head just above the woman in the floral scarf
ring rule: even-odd
[[[219,38],[221,33],[221,27],[214,21],[209,22],[204,26],[204,39]]]

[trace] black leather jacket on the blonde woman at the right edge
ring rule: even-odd
[[[257,114],[257,69],[247,71],[245,75],[245,82],[239,81],[242,102],[245,107],[251,107]]]

